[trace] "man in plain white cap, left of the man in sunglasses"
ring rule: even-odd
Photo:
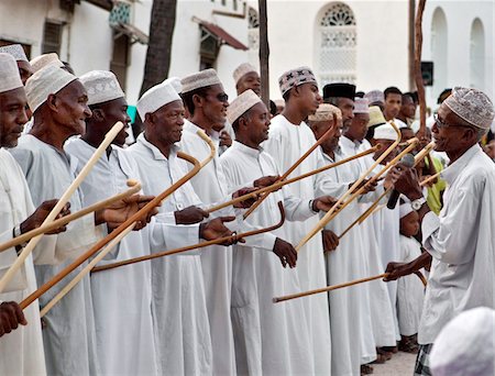
[[[176,143],[183,135],[185,114],[177,91],[180,91],[180,81],[168,79],[151,88],[138,101],[144,132],[125,154],[139,166],[143,190],[148,195],[161,193],[188,172],[187,163],[177,156]],[[161,213],[169,218],[169,223],[178,225],[176,241],[196,244],[201,239],[232,234],[222,223],[233,218],[206,222],[209,215],[196,207],[200,204],[189,181],[163,202]],[[213,373],[201,252],[212,251],[191,251],[161,257],[151,264],[156,351],[162,373]]]

